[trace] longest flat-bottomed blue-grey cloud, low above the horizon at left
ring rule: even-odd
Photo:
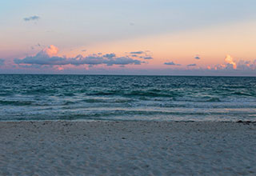
[[[41,65],[41,66],[64,66],[64,65],[100,65],[105,64],[107,66],[113,65],[140,65],[142,61],[132,59],[129,57],[116,57],[115,54],[105,54],[104,56],[99,56],[97,54],[92,54],[90,56],[86,56],[85,58],[82,55],[78,55],[75,58],[65,58],[65,57],[58,57],[53,56],[50,57],[49,55],[45,54],[44,52],[39,52],[35,56],[26,57],[22,59],[15,58],[14,63],[21,65],[21,64],[31,64],[31,65]]]

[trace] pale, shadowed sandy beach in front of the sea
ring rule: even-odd
[[[0,175],[256,175],[256,123],[0,122]]]

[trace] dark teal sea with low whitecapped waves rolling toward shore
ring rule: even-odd
[[[0,121],[256,121],[256,78],[0,74]]]

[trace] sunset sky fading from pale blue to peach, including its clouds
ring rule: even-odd
[[[254,0],[2,0],[0,74],[256,76]]]

